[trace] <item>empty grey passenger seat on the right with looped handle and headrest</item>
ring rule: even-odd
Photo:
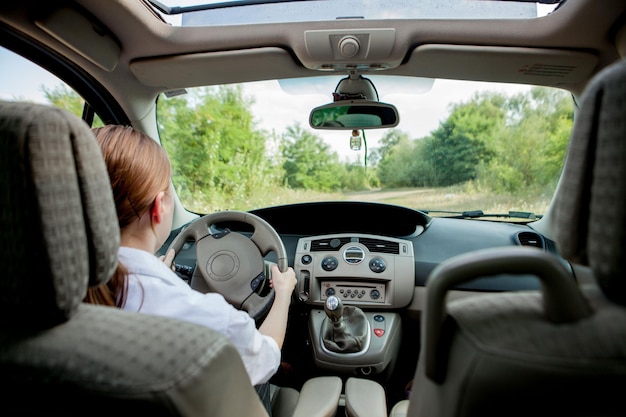
[[[503,248],[433,270],[408,407],[401,402],[392,415],[624,415],[625,210],[620,62],[585,91],[549,213],[548,233],[570,265],[537,249]],[[542,290],[446,304],[453,285],[497,273],[535,274]]]

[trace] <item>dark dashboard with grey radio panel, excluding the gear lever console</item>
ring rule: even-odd
[[[252,210],[278,232],[296,271],[302,303],[323,305],[330,294],[363,308],[403,308],[413,289],[424,287],[444,260],[473,250],[531,245],[557,253],[552,241],[522,223],[431,217],[403,206],[328,201]],[[224,222],[250,235],[251,226]],[[173,232],[173,236],[177,231]],[[173,236],[171,238],[173,238]],[[167,248],[169,241],[165,243]],[[272,254],[267,256],[273,261]],[[195,247],[185,245],[176,262],[195,266]],[[565,261],[564,261],[565,262]],[[537,290],[534,276],[501,274],[465,283],[468,291]]]

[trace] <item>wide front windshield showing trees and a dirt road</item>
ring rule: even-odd
[[[332,87],[319,86],[340,78],[311,79],[308,89],[273,80],[162,95],[160,137],[183,205],[205,214],[357,200],[506,221],[546,211],[573,123],[568,92],[453,80],[416,87],[415,79],[402,91],[381,81],[380,101],[400,115],[395,128],[312,129],[309,112],[332,101]]]

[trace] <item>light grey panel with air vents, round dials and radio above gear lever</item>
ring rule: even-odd
[[[323,306],[335,295],[361,308],[401,308],[413,296],[413,243],[358,233],[301,238],[294,270],[298,296],[308,304]]]

